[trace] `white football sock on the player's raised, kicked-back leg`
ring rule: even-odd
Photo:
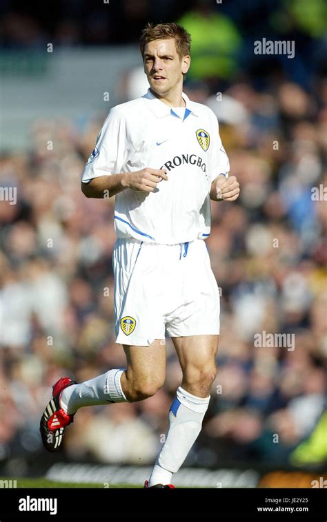
[[[68,414],[82,406],[96,406],[110,402],[128,402],[121,388],[121,374],[125,370],[109,370],[99,377],[81,384],[72,384],[61,393],[60,404]]]

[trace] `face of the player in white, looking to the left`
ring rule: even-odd
[[[144,72],[151,90],[165,96],[179,82],[190,67],[190,56],[179,58],[175,39],[153,40],[146,44],[143,55]]]

